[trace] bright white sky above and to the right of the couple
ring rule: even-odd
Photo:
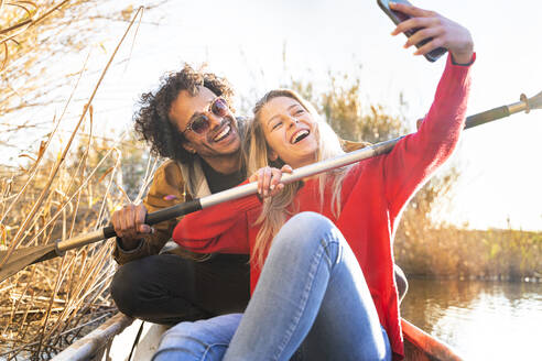
[[[542,90],[540,1],[414,3],[462,23],[473,34],[478,58],[469,114]],[[227,76],[239,95],[254,100],[292,74],[321,87],[328,84],[328,70],[358,75],[368,102],[393,110],[402,92],[412,125],[431,106],[445,63],[431,64],[403,50],[405,37],[390,35],[393,24],[376,0],[170,1],[143,21],[160,24],[143,24],[133,48],[124,45],[122,56],[131,52],[129,64],[112,69],[95,102],[111,128],[130,128],[138,95],[182,62],[207,62],[208,69]],[[123,26],[115,29],[115,42],[105,44],[107,54],[97,51],[93,56],[104,62]],[[447,219],[471,228],[506,228],[509,219],[513,228],[542,230],[541,134],[541,110],[465,132],[454,156],[463,173]]]

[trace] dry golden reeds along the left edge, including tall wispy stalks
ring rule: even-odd
[[[78,11],[84,11],[82,3],[69,6],[80,6]],[[19,62],[25,64],[32,78],[34,54],[12,53],[9,43],[20,44],[21,40],[34,39],[36,33],[32,32],[40,23],[50,20],[47,17],[58,17],[57,23],[69,22],[71,19],[57,12],[62,9],[72,11],[73,15],[77,9],[64,9],[68,6],[66,1],[2,1],[2,10],[17,8],[8,12],[9,17],[2,18],[0,28],[2,77],[9,80],[7,74],[18,72],[17,64],[11,65]],[[24,12],[22,17],[19,9]],[[64,112],[51,122],[51,132],[36,152],[22,154],[30,160],[26,167],[0,168],[0,250],[7,251],[0,266],[9,262],[14,250],[69,239],[104,226],[109,211],[126,203],[126,193],[118,182],[119,143],[93,134],[91,102],[117,50],[140,14],[141,9],[136,12],[101,70],[101,77],[80,110],[77,124],[69,131],[68,139],[61,142],[61,149],[55,150],[51,145],[59,143],[58,129]],[[23,50],[21,52],[24,53]],[[78,76],[83,74],[80,72]],[[12,112],[28,106],[10,107],[9,101],[13,100],[10,96],[15,92],[36,96],[33,92],[35,84],[29,84],[29,88],[19,88],[18,91],[3,88],[7,97],[2,98],[2,111]],[[71,100],[72,97],[66,99],[64,111]],[[26,131],[31,125],[18,125],[13,131]],[[63,258],[31,265],[0,283],[0,358],[50,359],[86,329],[112,314],[116,309],[107,291],[115,270],[110,251],[111,243],[91,244],[69,251]]]

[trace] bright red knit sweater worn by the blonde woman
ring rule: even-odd
[[[394,359],[403,355],[398,294],[393,276],[392,240],[402,209],[431,174],[452,154],[464,127],[470,84],[469,66],[448,56],[435,99],[419,131],[404,136],[389,154],[353,166],[342,190],[342,211],[330,211],[326,188],[321,207],[317,180],[305,183],[295,197],[299,211],[328,217],[351,247],[367,280],[380,322],[390,338]],[[261,212],[256,196],[225,203],[188,215],[173,239],[195,252],[249,253],[258,234]],[[251,289],[260,269],[251,264]]]

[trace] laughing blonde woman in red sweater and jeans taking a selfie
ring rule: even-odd
[[[392,240],[401,210],[452,154],[463,129],[473,41],[430,11],[397,6],[421,39],[449,51],[435,100],[414,134],[389,154],[284,186],[291,172],[340,153],[337,136],[301,97],[273,90],[254,108],[249,180],[260,198],[185,217],[174,239],[196,252],[250,252],[252,297],[243,315],[183,322],[155,360],[400,360],[403,341]],[[196,325],[197,324],[197,325]],[[296,352],[297,350],[297,352]]]

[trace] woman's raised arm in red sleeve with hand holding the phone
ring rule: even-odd
[[[449,52],[433,105],[419,131],[401,140],[383,158],[387,199],[392,211],[399,212],[418,187],[449,157],[459,140],[475,54],[470,33],[462,25],[415,7],[395,4],[393,10],[412,17],[400,23],[393,34],[421,29],[406,41],[405,47],[433,37],[415,54],[422,55],[436,47],[446,47]]]

